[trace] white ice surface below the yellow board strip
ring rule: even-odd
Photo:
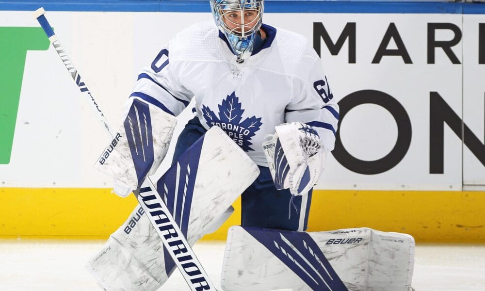
[[[84,268],[102,241],[0,240],[0,291],[101,291]],[[220,290],[223,242],[199,242],[194,251]],[[485,245],[418,244],[417,291],[485,291]],[[175,271],[161,291],[187,291]]]

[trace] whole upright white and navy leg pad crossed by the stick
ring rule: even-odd
[[[157,191],[194,245],[258,175],[244,151],[212,127],[159,179]],[[175,269],[155,228],[139,214],[133,211],[88,262],[106,290],[157,290]]]

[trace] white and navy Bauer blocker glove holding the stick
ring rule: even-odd
[[[165,157],[175,129],[175,116],[134,97],[129,112],[95,168],[115,180],[114,192],[126,197]]]

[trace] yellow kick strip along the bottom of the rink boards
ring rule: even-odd
[[[137,202],[111,189],[0,188],[0,236],[105,239]],[[235,213],[204,240],[225,240]],[[485,192],[327,191],[313,193],[308,231],[367,226],[417,242],[485,242]]]

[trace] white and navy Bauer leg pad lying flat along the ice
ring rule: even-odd
[[[370,228],[297,232],[229,229],[221,276],[225,291],[405,291],[414,239]]]

